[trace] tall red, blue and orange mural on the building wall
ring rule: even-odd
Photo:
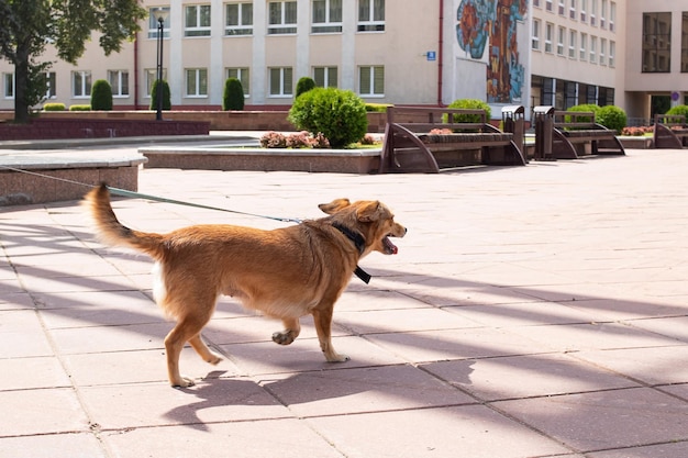
[[[522,98],[525,70],[519,59],[517,25],[526,12],[528,0],[462,0],[456,10],[458,46],[471,59],[486,63],[488,103],[515,103]]]

